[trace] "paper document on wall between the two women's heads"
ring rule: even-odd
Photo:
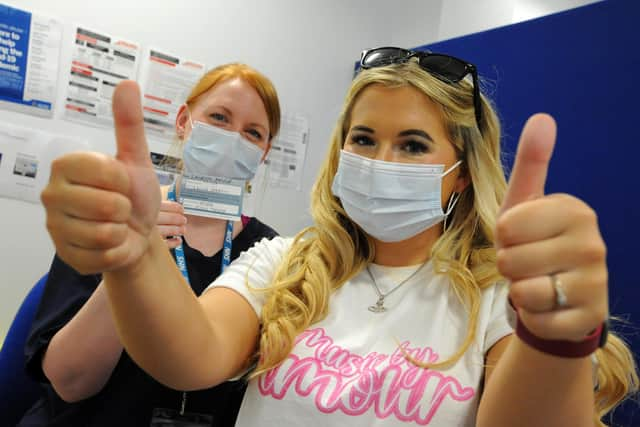
[[[265,160],[268,182],[274,187],[302,187],[302,171],[307,154],[309,122],[298,114],[283,114],[280,132]]]

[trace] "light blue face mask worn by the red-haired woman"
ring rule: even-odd
[[[184,146],[184,173],[252,179],[264,151],[238,132],[230,132],[202,122],[192,122],[191,135]]]

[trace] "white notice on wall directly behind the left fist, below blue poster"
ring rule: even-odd
[[[71,151],[88,149],[86,141],[0,124],[0,197],[40,203],[51,161]]]

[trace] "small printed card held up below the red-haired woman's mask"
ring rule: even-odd
[[[180,203],[190,215],[239,221],[244,188],[241,179],[184,174]]]

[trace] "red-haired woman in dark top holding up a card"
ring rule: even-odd
[[[177,140],[170,154],[183,158],[186,172],[248,180],[264,160],[279,126],[280,106],[269,79],[244,64],[222,65],[206,73],[181,106],[175,124]],[[105,183],[118,181],[109,172],[112,159],[96,153],[78,154],[75,159],[79,173]],[[147,185],[145,191],[157,188],[157,182]],[[179,189],[172,193],[179,193]],[[85,203],[85,208],[94,212],[106,212],[114,206],[91,197]],[[84,217],[73,209],[66,213],[76,220]],[[49,225],[57,228],[51,219]],[[277,235],[257,218],[242,217],[228,223],[185,216],[182,206],[172,201],[163,202],[158,224],[163,236],[172,236],[167,239],[169,247],[182,244],[174,257],[184,261],[189,279],[185,290],[195,295],[220,274],[227,233],[230,259],[255,242]],[[83,230],[88,227],[85,224],[70,231],[74,245],[85,244]],[[93,237],[96,231],[89,230]],[[114,228],[103,231],[99,239],[107,245],[118,236]],[[101,276],[80,275],[58,255],[26,348],[28,372],[45,383],[46,395],[21,425],[148,426],[172,416],[202,422],[213,418],[216,425],[234,425],[244,382],[191,393],[159,384],[122,351]]]

